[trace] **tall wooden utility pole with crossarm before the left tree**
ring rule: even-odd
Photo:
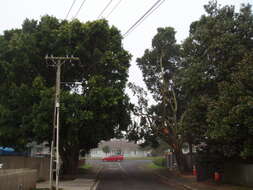
[[[46,61],[51,61],[52,66],[56,67],[56,90],[55,90],[55,108],[53,119],[53,138],[51,144],[50,157],[50,183],[49,188],[53,190],[53,172],[56,173],[55,188],[59,190],[60,174],[60,155],[59,155],[59,120],[60,120],[60,85],[61,85],[61,66],[66,62],[79,61],[78,57],[53,57],[46,56]]]

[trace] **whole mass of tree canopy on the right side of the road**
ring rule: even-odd
[[[210,1],[204,8],[206,14],[191,24],[181,45],[173,28],[159,28],[152,48],[137,59],[157,105],[149,107],[143,89],[130,85],[141,105],[130,136],[145,138],[147,145],[162,138],[179,167],[184,142],[197,146],[205,159],[216,155],[212,161],[219,164],[253,156],[251,5],[236,12]]]

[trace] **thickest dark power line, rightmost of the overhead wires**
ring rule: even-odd
[[[139,18],[124,34],[123,37],[126,37],[132,30],[134,30],[139,24],[141,24],[149,15],[151,15],[165,0],[158,0],[156,1],[152,7],[145,12],[145,14]]]

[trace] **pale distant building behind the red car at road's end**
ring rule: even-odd
[[[109,147],[109,152],[103,151],[104,147]],[[98,148],[91,149],[90,157],[102,158],[110,155],[124,155],[125,157],[146,157],[150,151],[140,149],[140,146],[134,142],[129,142],[123,139],[112,139],[110,141],[101,141]]]

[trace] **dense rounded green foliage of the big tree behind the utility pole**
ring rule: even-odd
[[[78,159],[97,143],[121,135],[130,122],[124,93],[131,56],[105,20],[81,23],[43,16],[0,36],[0,144],[24,149],[52,138],[55,69],[45,56],[74,55],[64,64],[61,85],[60,154]],[[76,160],[74,161],[76,162]],[[74,167],[73,167],[74,168]]]

